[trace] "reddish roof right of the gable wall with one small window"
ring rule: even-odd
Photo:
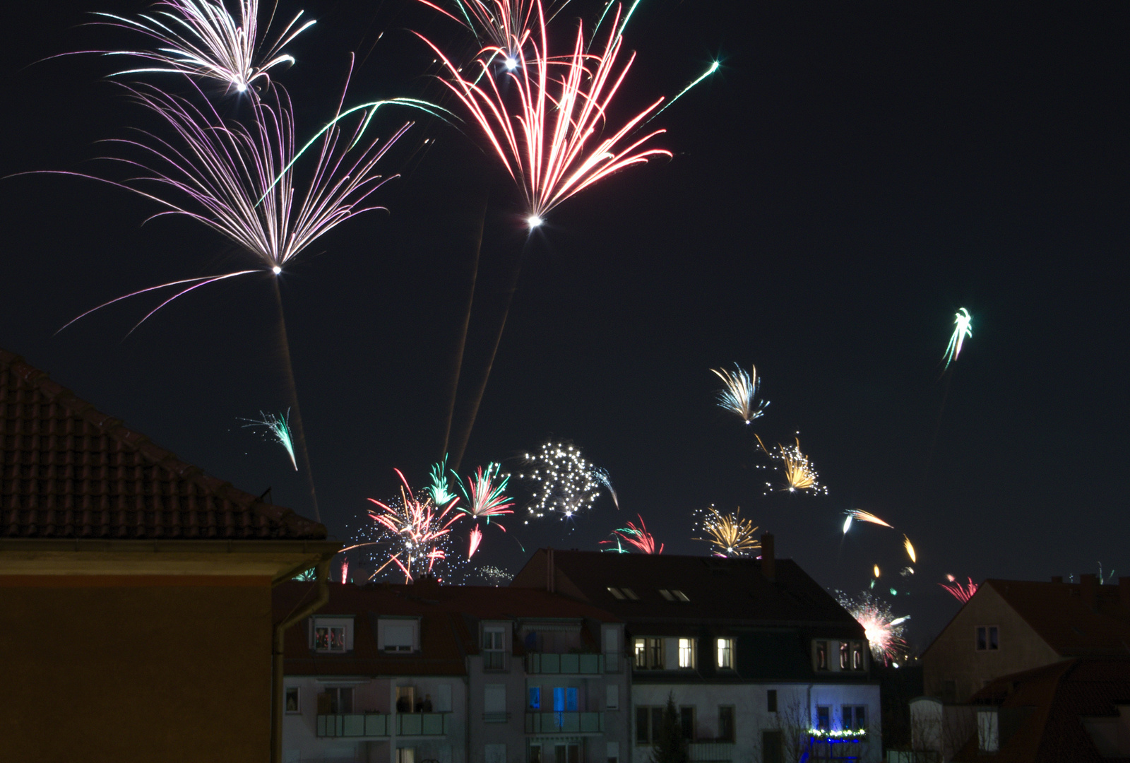
[[[1120,586],[1098,586],[1095,602],[1083,583],[986,580],[1024,621],[1063,657],[1130,656],[1130,607]]]

